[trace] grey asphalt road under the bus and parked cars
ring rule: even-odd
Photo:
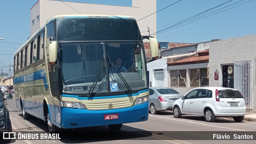
[[[13,94],[14,95],[14,94]],[[48,128],[43,120],[33,117],[29,120],[22,118],[22,112],[16,108],[15,95],[7,100],[10,111],[13,132],[46,133]],[[256,122],[236,123],[228,118],[217,118],[215,122],[205,122],[200,116],[182,116],[174,118],[171,111],[159,112],[157,115],[149,114],[146,122],[124,124],[121,130],[112,132],[108,126],[65,130],[65,137],[60,140],[12,140],[14,144],[84,144],[84,143],[110,143],[110,144],[241,144],[255,143]],[[218,134],[218,135],[217,135]],[[236,135],[236,140],[231,140]],[[72,139],[79,135],[82,140]],[[241,135],[246,140],[239,140]],[[92,139],[92,137],[95,137]],[[214,137],[215,136],[215,137]],[[221,139],[217,139],[218,137]],[[230,138],[228,138],[230,136]],[[248,137],[249,136],[249,137]],[[72,139],[72,140],[69,140]],[[214,139],[213,139],[214,138]]]

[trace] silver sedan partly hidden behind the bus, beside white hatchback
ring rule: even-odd
[[[157,114],[160,110],[172,110],[175,100],[183,95],[172,88],[150,87],[149,88],[149,111]]]

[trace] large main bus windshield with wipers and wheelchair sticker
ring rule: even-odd
[[[138,42],[59,43],[63,92],[88,94],[95,81],[96,94],[108,93],[109,89],[125,92],[128,90],[125,84],[132,90],[146,88],[142,50]],[[102,66],[104,69],[96,79]]]

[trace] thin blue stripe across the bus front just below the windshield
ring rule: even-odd
[[[78,100],[92,100],[92,99],[123,98],[127,96],[137,96],[142,92],[148,92],[148,90],[142,90],[136,94],[128,94],[128,95],[125,94],[125,95],[119,95],[119,96],[79,97],[75,95],[62,94],[62,97],[77,98]]]

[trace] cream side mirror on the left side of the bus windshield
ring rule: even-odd
[[[50,40],[49,44],[49,63],[55,65],[57,60],[58,42],[57,40]]]

